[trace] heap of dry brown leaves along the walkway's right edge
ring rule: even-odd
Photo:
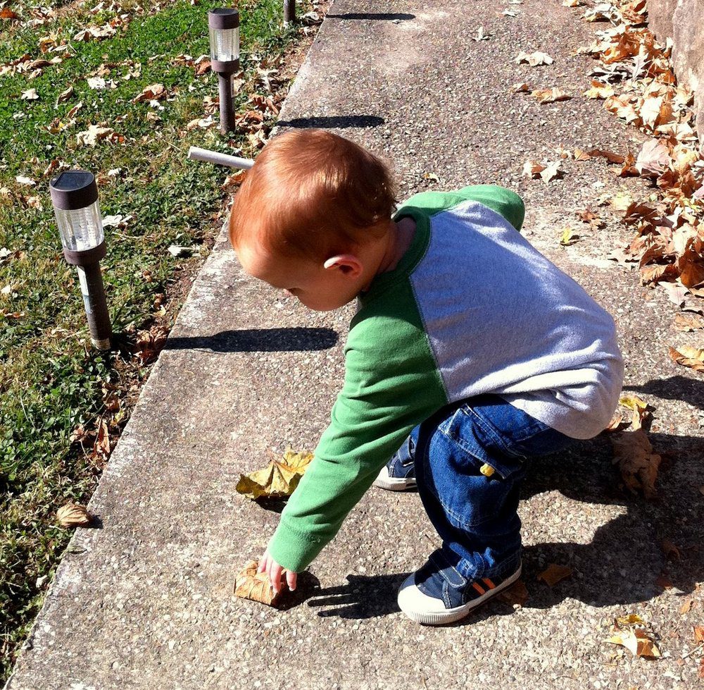
[[[704,160],[692,126],[693,94],[677,86],[670,42],[659,44],[643,26],[645,0],[604,5],[614,26],[580,50],[600,63],[585,95],[605,98],[606,110],[653,137],[635,156],[627,152],[612,162],[622,163],[619,175],[648,178],[656,189],[648,202],[624,209],[624,221],[637,234],[612,258],[637,262],[643,285],[680,288],[681,306],[686,295],[704,297]],[[701,313],[700,307],[685,309]]]

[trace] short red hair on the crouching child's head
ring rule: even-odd
[[[325,130],[274,137],[246,174],[230,242],[256,237],[279,256],[325,259],[382,235],[396,187],[377,156]]]

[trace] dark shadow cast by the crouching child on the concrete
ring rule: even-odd
[[[573,541],[524,547],[522,581],[528,599],[523,608],[551,608],[566,598],[595,607],[642,603],[665,589],[684,602],[696,590],[704,578],[704,523],[698,518],[704,440],[664,433],[653,433],[649,438],[655,450],[675,458],[670,466],[661,466],[660,498],[653,501],[625,493],[619,486],[605,434],[579,443],[573,450],[531,461],[523,499],[559,491],[584,507],[567,508],[565,515],[559,509],[545,515],[552,524],[565,524],[574,535]],[[624,510],[592,531],[600,505],[619,505]],[[529,540],[529,531],[529,525],[524,527],[524,541]],[[587,541],[589,537],[591,541]],[[552,587],[538,579],[551,563],[572,569],[570,577]],[[421,565],[418,562],[417,566]],[[350,574],[346,584],[321,590],[308,605],[320,607],[320,616],[363,619],[388,615],[398,611],[396,590],[405,577],[406,573]],[[511,613],[510,599],[498,596],[456,625]]]

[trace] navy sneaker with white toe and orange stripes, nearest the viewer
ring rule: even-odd
[[[398,589],[398,605],[417,623],[452,623],[512,585],[520,574],[519,563],[516,572],[507,577],[468,580],[460,575],[443,551],[438,549],[420,570],[411,573],[403,582]]]

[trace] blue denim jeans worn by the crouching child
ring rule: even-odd
[[[418,493],[455,569],[467,579],[515,572],[527,458],[562,450],[574,440],[497,395],[444,407],[410,436]],[[484,465],[484,472],[493,468],[494,474],[483,474]]]

